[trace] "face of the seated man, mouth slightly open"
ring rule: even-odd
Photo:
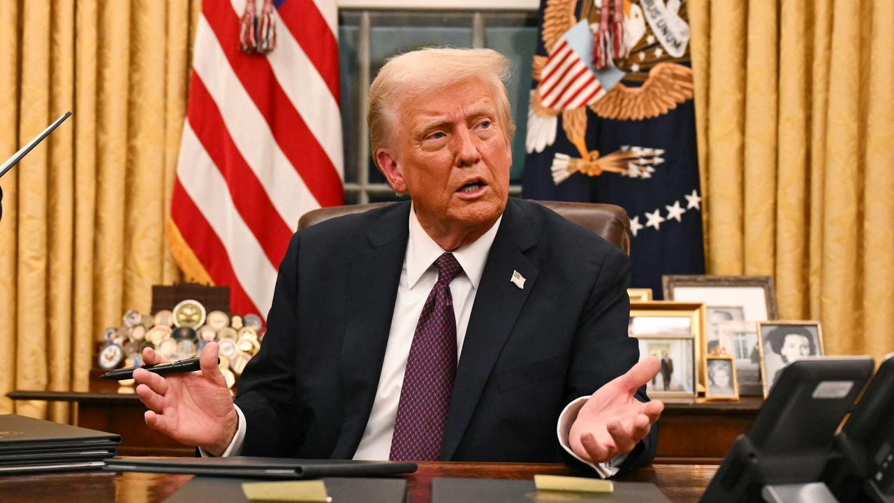
[[[471,80],[409,98],[396,125],[376,158],[426,230],[490,228],[506,207],[512,165],[491,88]]]

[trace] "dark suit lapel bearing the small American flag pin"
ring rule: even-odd
[[[534,289],[537,269],[524,252],[536,245],[527,217],[514,200],[503,212],[500,230],[487,256],[475,304],[453,381],[450,412],[441,459],[450,460],[460,444],[493,364],[509,337],[519,312]],[[524,288],[510,282],[513,271],[525,277]]]

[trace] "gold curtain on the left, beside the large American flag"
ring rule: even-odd
[[[13,389],[86,391],[95,341],[179,271],[164,241],[198,0],[0,2],[0,413]]]

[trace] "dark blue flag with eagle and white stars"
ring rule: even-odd
[[[704,273],[692,70],[682,0],[544,0],[524,197],[617,204],[632,286]]]

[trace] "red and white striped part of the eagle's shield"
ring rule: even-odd
[[[586,107],[605,94],[595,74],[564,38],[546,59],[537,90],[540,102],[553,110]]]

